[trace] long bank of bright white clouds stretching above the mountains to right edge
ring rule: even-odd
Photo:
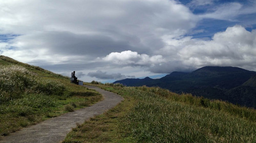
[[[168,39],[156,53],[161,55],[150,57],[132,51],[114,52],[103,60],[123,66],[146,66],[154,73],[191,70],[207,65],[255,70],[256,30],[249,32],[237,25],[216,33],[211,40],[192,37]]]

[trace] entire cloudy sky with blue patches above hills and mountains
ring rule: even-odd
[[[0,55],[84,82],[256,71],[256,1],[0,0]]]

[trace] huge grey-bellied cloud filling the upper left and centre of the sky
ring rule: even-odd
[[[34,49],[52,57],[56,54],[99,57],[124,50],[154,53],[164,45],[160,35],[184,34],[198,20],[185,6],[168,0],[24,0],[5,1],[0,7],[3,8],[0,34],[18,34],[10,42],[16,47],[12,53],[31,61],[48,60],[45,56],[27,55]]]

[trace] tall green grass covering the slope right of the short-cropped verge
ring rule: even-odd
[[[133,93],[138,104],[122,120],[126,130],[138,142],[255,141],[255,120],[245,120],[225,111],[194,106],[190,101],[185,102],[189,104],[184,104],[166,100],[154,93],[160,89],[148,88],[144,91],[143,88],[145,89],[126,88]]]

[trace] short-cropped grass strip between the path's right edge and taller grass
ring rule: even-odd
[[[73,128],[63,142],[117,142],[126,134],[121,130],[120,117],[124,116],[135,103],[134,98],[125,96],[124,101],[104,114],[90,118]],[[126,138],[134,142],[133,138]]]

